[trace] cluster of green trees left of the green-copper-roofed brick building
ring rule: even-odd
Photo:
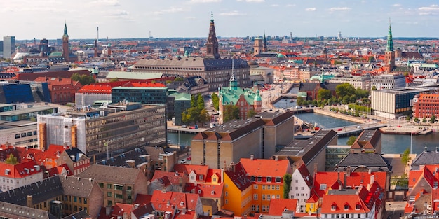
[[[204,99],[201,94],[191,96],[191,107],[182,113],[182,122],[184,124],[196,124],[200,122],[204,124],[210,121],[210,116],[204,108]]]

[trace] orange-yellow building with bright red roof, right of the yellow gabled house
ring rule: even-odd
[[[283,198],[283,176],[292,174],[289,160],[241,158],[252,183],[252,212],[268,213],[271,199]]]

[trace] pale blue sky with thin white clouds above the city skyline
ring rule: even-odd
[[[437,0],[1,0],[0,36],[16,40],[207,37],[438,37]]]

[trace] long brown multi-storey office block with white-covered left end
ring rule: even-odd
[[[140,146],[164,146],[165,113],[164,105],[125,102],[38,115],[39,148],[67,145],[103,158]]]

